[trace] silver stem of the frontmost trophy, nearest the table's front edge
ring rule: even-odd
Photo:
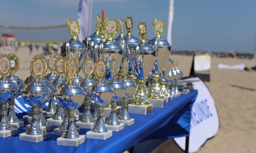
[[[62,137],[66,139],[79,138],[79,133],[76,130],[75,125],[75,111],[74,109],[68,110],[68,122],[67,129],[64,131]]]

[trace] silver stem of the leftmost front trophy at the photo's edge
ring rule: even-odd
[[[0,130],[11,130],[12,126],[9,124],[7,118],[7,103],[1,103],[1,115],[0,115]]]

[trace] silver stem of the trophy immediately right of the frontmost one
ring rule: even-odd
[[[97,106],[96,111],[98,113],[98,116],[92,131],[96,133],[108,132],[108,129],[103,122],[103,106]]]

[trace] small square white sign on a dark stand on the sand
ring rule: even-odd
[[[211,56],[209,54],[195,55],[194,70],[195,71],[209,71],[211,69]]]

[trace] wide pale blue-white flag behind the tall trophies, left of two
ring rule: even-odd
[[[78,40],[83,41],[90,35],[92,23],[93,0],[80,0],[77,20],[80,25]]]

